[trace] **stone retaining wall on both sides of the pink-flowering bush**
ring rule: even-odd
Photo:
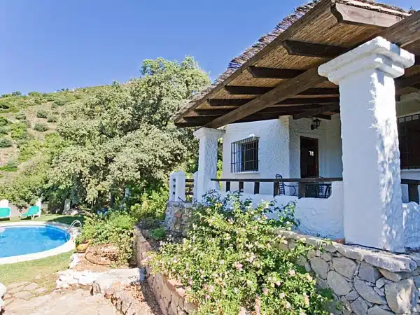
[[[136,257],[141,261],[151,246],[140,230],[135,231]],[[420,313],[420,254],[395,254],[335,242],[325,245],[318,237],[279,230],[286,241],[283,249],[304,241],[315,250],[309,251],[300,265],[314,272],[321,288],[330,288],[341,310],[335,315],[392,315]],[[319,249],[323,247],[322,251]],[[163,314],[189,314],[195,305],[186,302],[181,283],[168,280],[162,274],[151,275],[146,267],[147,281],[160,304]]]

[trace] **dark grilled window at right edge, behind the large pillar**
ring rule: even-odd
[[[420,169],[420,115],[398,118],[401,169]]]

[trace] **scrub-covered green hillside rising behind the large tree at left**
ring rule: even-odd
[[[39,152],[45,137],[55,132],[66,107],[83,103],[104,88],[3,94],[0,98],[0,183],[7,183]]]

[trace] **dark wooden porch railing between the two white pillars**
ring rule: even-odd
[[[225,190],[230,191],[230,183],[237,182],[239,183],[239,190],[244,191],[244,183],[254,183],[253,193],[260,193],[260,183],[273,183],[273,196],[280,195],[281,192],[281,183],[297,183],[298,187],[298,197],[322,197],[328,198],[330,195],[330,187],[333,181],[342,181],[342,177],[325,177],[325,178],[307,178],[307,179],[211,179],[211,181],[225,182]],[[320,186],[325,186],[325,195],[308,195],[308,187],[315,187],[315,191],[319,191]],[[329,190],[329,193],[328,193]],[[282,194],[283,195],[283,194]]]

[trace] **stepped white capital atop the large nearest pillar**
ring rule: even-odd
[[[404,69],[414,64],[414,55],[385,38],[377,37],[363,45],[322,64],[318,68],[321,76],[339,84],[362,71],[384,71],[391,78],[404,74]]]

